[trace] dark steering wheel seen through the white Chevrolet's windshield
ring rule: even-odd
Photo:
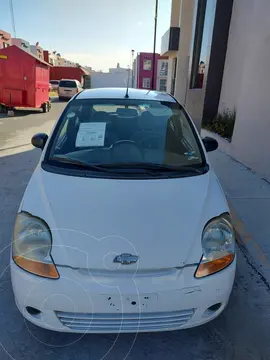
[[[111,158],[114,162],[141,162],[143,157],[142,149],[132,140],[116,141],[111,146]]]

